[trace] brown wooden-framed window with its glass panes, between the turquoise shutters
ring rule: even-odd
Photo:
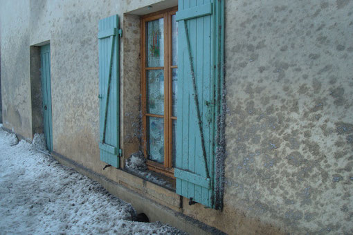
[[[177,129],[177,8],[142,18],[143,147],[147,166],[174,177]]]

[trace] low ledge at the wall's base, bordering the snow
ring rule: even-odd
[[[175,212],[172,209],[151,200],[150,198],[146,198],[142,194],[138,194],[136,191],[128,189],[124,185],[120,185],[118,182],[110,180],[106,176],[84,167],[82,164],[62,156],[60,153],[53,151],[51,152],[51,155],[61,164],[71,167],[85,176],[88,176],[92,180],[99,182],[103,187],[105,187],[105,189],[107,189],[107,191],[109,191],[109,193],[117,196],[121,200],[125,200],[127,203],[130,203],[132,207],[138,208],[139,210],[145,212],[145,214],[149,214],[149,212],[153,213],[154,216],[157,217],[162,223],[177,227],[178,229],[181,229],[189,234],[225,234],[215,227],[206,225],[205,223],[195,220],[190,216],[185,216],[180,212]],[[120,169],[116,170],[120,171]]]

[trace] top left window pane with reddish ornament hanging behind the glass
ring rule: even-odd
[[[146,66],[163,67],[163,18],[146,22]]]

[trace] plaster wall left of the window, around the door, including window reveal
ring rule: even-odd
[[[34,55],[33,46],[50,43],[53,149],[101,172],[105,163],[99,160],[98,148],[98,21],[118,14],[120,28],[128,35],[120,42],[120,147],[127,156],[138,150],[139,19],[124,14],[159,2],[167,1],[1,0],[4,126],[26,138],[40,129],[37,122],[31,124],[38,117],[31,112],[30,79],[35,71],[30,73],[30,46]]]

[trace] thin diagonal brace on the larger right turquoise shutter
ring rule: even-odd
[[[188,32],[188,25],[185,20],[184,21],[184,28],[185,28],[185,37],[186,37],[186,44],[188,44],[188,53],[189,53],[189,60],[190,60],[190,71],[192,77],[192,86],[194,88],[194,102],[197,112],[197,119],[199,120],[199,130],[201,135],[201,148],[202,148],[202,155],[203,161],[205,162],[205,170],[207,178],[210,178],[210,172],[208,171],[208,164],[207,164],[207,157],[206,157],[206,147],[205,147],[205,139],[203,138],[203,129],[202,129],[202,121],[201,121],[201,114],[199,108],[199,96],[197,95],[197,88],[196,88],[196,77],[194,73],[194,65],[192,62],[192,54],[191,54],[191,46],[190,46],[190,39],[189,39],[189,32]]]

